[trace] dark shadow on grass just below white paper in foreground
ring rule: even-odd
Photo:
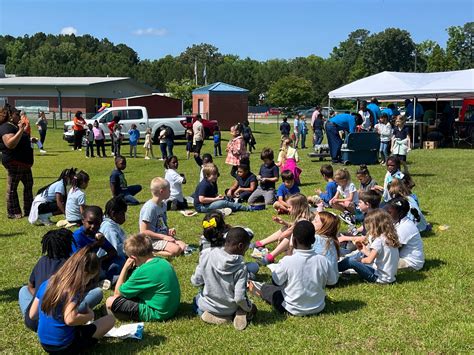
[[[147,333],[145,324],[142,340],[104,338],[89,352],[92,354],[135,354],[147,348],[156,350],[157,346],[165,342],[166,337]]]

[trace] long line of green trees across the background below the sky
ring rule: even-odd
[[[473,68],[474,22],[446,31],[444,48],[431,40],[415,43],[408,31],[398,28],[378,33],[358,29],[334,47],[328,58],[309,55],[266,61],[222,54],[207,43],[194,44],[178,56],[140,60],[130,47],[90,35],[6,35],[0,36],[0,63],[6,64],[7,73],[21,76],[132,77],[183,99],[188,111],[191,91],[204,84],[206,66],[207,82],[248,89],[251,105],[314,105],[324,102],[329,91],[384,70]]]

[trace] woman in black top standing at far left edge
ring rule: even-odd
[[[2,164],[7,170],[7,213],[8,218],[22,217],[18,200],[18,185],[23,184],[23,213],[30,214],[33,202],[33,148],[30,136],[25,132],[27,124],[20,121],[20,112],[5,106],[0,109],[0,150]]]

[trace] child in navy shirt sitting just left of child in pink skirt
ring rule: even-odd
[[[263,161],[257,175],[260,185],[250,195],[249,204],[252,205],[263,197],[265,205],[273,205],[275,201],[275,183],[280,175],[278,166],[273,161],[273,150],[271,148],[263,148],[262,153],[260,153],[260,159]]]

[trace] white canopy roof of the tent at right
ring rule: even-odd
[[[474,97],[474,69],[439,73],[384,71],[329,93],[330,99],[411,99]]]

